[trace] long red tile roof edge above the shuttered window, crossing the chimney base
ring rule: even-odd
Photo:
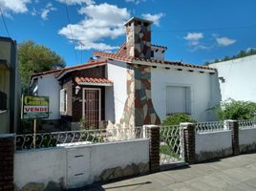
[[[103,52],[94,52],[96,56],[104,57],[107,59],[115,59],[119,61],[133,63],[133,61],[144,61],[149,63],[155,64],[164,64],[164,65],[174,65],[174,66],[181,66],[181,67],[189,67],[189,68],[197,68],[197,69],[205,69],[205,70],[214,70],[208,66],[200,66],[200,65],[193,65],[193,64],[186,64],[177,61],[166,61],[166,60],[158,60],[158,59],[147,59],[147,58],[140,58],[140,57],[133,57],[127,55],[118,55],[117,53],[103,53]]]

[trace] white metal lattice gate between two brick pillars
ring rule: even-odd
[[[160,126],[160,168],[183,164],[183,131],[180,126]]]

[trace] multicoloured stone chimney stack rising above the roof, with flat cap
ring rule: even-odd
[[[126,27],[127,55],[141,58],[151,57],[151,24],[153,22],[133,17]]]

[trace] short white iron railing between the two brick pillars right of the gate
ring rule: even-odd
[[[224,121],[211,121],[196,123],[196,132],[213,132],[224,130]]]

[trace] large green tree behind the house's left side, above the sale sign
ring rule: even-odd
[[[33,41],[25,41],[18,45],[19,70],[23,90],[29,87],[30,76],[66,66],[63,58],[45,46]]]

